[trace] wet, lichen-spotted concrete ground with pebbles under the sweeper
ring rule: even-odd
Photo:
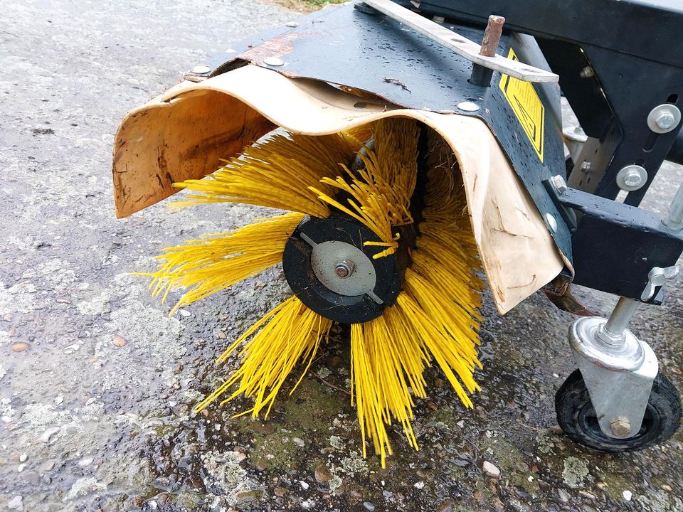
[[[267,422],[231,419],[247,402],[192,415],[227,371],[213,360],[287,287],[269,271],[168,318],[130,272],[151,269],[161,247],[263,210],[157,205],[115,220],[113,134],[185,70],[292,14],[247,0],[6,0],[1,12],[0,508],[683,510],[681,432],[623,455],[558,432],[571,316],[540,294],[504,318],[485,298],[475,410],[430,373],[420,451],[394,432],[386,470],[359,455],[355,411],[337,390],[349,376],[343,341]],[[645,207],[664,210],[682,180],[666,165]],[[603,312],[614,302],[579,294]],[[682,387],[680,282],[633,329]]]

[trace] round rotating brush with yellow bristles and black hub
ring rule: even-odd
[[[383,119],[326,136],[275,134],[201,180],[181,204],[247,203],[289,210],[158,256],[154,294],[186,289],[181,306],[282,263],[294,295],[229,346],[238,370],[197,407],[239,395],[268,413],[292,371],[292,393],[335,323],[351,324],[351,403],[384,466],[388,427],[411,447],[415,398],[438,365],[460,400],[477,358],[482,280],[460,169],[450,146],[413,119]]]

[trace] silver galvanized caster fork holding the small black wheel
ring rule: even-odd
[[[626,439],[640,432],[659,363],[652,348],[628,329],[610,339],[606,324],[599,316],[576,320],[569,328],[569,343],[600,430]]]

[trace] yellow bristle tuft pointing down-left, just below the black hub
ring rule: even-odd
[[[332,321],[311,311],[296,297],[282,302],[265,314],[218,358],[219,363],[226,361],[244,341],[249,340],[238,353],[241,358],[240,368],[220,388],[197,405],[196,412],[220,398],[237,383],[237,389],[221,404],[238,395],[245,395],[254,399],[254,406],[238,416],[251,413],[253,417],[258,417],[266,408],[264,416],[268,417],[270,407],[287,375],[299,361],[305,362],[305,369],[290,391],[292,393],[315,358],[321,338],[327,338],[331,327]]]

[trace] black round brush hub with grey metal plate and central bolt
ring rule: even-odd
[[[383,247],[364,225],[346,218],[306,218],[287,240],[282,269],[310,309],[347,324],[369,321],[401,290],[396,255],[373,259]]]

